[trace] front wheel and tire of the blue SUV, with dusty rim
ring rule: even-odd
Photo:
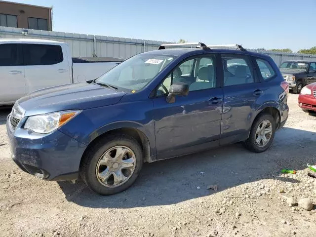
[[[118,149],[120,149],[120,154],[124,154],[123,149],[127,151],[127,153],[124,155],[126,158],[121,158],[121,162],[118,161],[118,159],[120,159],[119,155],[118,158],[116,158],[117,154],[119,154]],[[132,168],[129,167],[128,169],[124,169],[118,164],[122,164],[124,160],[127,161],[127,159],[130,160],[131,158],[134,160]],[[102,162],[106,163],[106,165],[102,165]],[[136,180],[140,170],[142,169],[142,166],[143,151],[137,140],[125,134],[114,134],[104,137],[91,148],[89,148],[81,163],[80,176],[84,183],[92,191],[100,195],[112,195],[129,188]],[[106,178],[104,183],[101,181],[100,176],[98,176],[103,174],[103,172],[106,174],[112,173],[110,176],[107,176],[108,178]],[[116,175],[117,179],[114,177],[116,172],[118,172],[118,175]],[[125,176],[129,177],[126,178]],[[126,179],[121,183],[117,182],[118,185],[115,185],[115,180],[122,180],[123,178]],[[113,184],[111,184],[111,182],[113,182]]]

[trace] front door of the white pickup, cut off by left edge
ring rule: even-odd
[[[0,104],[11,104],[25,95],[22,47],[0,44]]]

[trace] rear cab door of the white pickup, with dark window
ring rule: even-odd
[[[68,59],[60,45],[23,44],[23,55],[27,94],[42,88],[71,83]]]

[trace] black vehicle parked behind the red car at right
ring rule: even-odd
[[[299,94],[304,86],[316,82],[316,62],[314,61],[285,61],[279,69],[295,94]]]

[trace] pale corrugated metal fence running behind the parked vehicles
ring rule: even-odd
[[[26,32],[27,34],[23,33]],[[129,38],[84,35],[75,33],[23,30],[20,28],[0,27],[0,39],[3,38],[36,38],[56,40],[69,43],[73,57],[116,57],[129,58],[135,54],[158,49],[162,41],[138,40]],[[316,55],[283,53],[247,49],[253,52],[268,54],[279,65],[286,60],[316,60]]]

